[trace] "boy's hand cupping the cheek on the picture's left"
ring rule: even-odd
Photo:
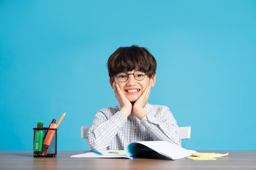
[[[120,111],[123,112],[126,115],[126,117],[128,117],[132,113],[131,102],[126,98],[126,96],[122,93],[121,89],[119,88],[119,85],[115,82],[113,82],[113,89],[115,97],[121,106]]]

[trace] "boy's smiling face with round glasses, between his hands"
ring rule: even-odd
[[[141,81],[135,79],[134,75],[132,75],[135,72],[129,71],[127,72],[128,79],[126,82],[120,82],[117,77],[115,77],[114,81],[117,83],[123,92],[123,94],[126,96],[126,98],[130,102],[135,102],[137,99],[142,95],[142,93],[145,91],[146,87],[151,85],[152,87],[155,86],[155,75],[153,77],[148,77],[148,75],[145,75],[145,78]],[[113,80],[110,79],[110,85],[113,88]]]

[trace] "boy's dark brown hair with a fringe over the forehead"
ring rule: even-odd
[[[108,58],[108,75],[111,79],[121,72],[132,70],[144,71],[153,77],[157,69],[155,57],[144,47],[136,45],[119,47]]]

